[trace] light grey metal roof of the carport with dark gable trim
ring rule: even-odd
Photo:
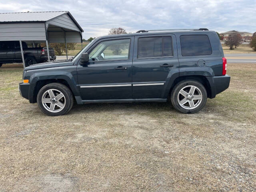
[[[0,13],[0,24],[33,22],[44,23],[64,14],[68,14],[81,32],[84,32],[78,22],[76,22],[74,17],[68,11]]]

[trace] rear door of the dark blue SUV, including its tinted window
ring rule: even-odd
[[[132,66],[132,94],[136,101],[164,97],[168,74],[179,68],[174,34],[136,36]]]

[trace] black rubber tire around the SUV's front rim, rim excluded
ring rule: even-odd
[[[72,99],[70,98],[70,93],[68,93],[68,88],[62,85],[62,84],[57,84],[57,83],[52,83],[52,84],[48,84],[46,86],[43,86],[38,94],[37,94],[37,104],[39,106],[39,108],[42,110],[42,112],[44,112],[45,114],[49,115],[49,116],[60,116],[60,115],[64,115],[66,114],[69,110],[70,110],[70,106],[73,105]],[[46,110],[46,108],[44,108],[43,104],[42,104],[42,96],[44,94],[44,92],[46,92],[49,89],[56,89],[59,90],[60,92],[62,92],[66,98],[66,105],[64,107],[64,109],[62,109],[60,112],[50,112],[48,110]]]

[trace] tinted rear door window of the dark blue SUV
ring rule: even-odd
[[[172,37],[146,37],[138,39],[138,58],[173,56]]]

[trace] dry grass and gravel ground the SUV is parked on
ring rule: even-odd
[[[14,68],[15,67],[15,68]],[[75,105],[42,114],[0,69],[0,192],[256,191],[256,65],[197,114],[166,103]]]

